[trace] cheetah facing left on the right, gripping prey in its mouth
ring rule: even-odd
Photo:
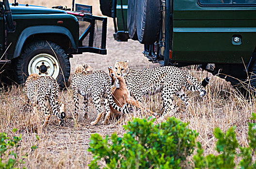
[[[164,109],[162,116],[171,111],[176,112],[174,95],[183,100],[188,107],[189,98],[183,92],[182,86],[190,91],[199,91],[201,97],[206,94],[205,88],[195,77],[173,66],[135,70],[128,67],[128,61],[116,60],[114,67],[117,74],[125,78],[128,90],[139,102],[144,95],[161,93]]]

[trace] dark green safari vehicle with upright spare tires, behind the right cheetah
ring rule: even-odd
[[[102,14],[113,17],[114,38],[143,43],[150,61],[200,65],[233,85],[250,84],[255,90],[256,0],[100,2]]]

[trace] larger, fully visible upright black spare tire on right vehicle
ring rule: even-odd
[[[138,0],[136,30],[139,42],[153,44],[159,39],[161,0]]]

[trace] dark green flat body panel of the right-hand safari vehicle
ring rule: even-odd
[[[256,7],[199,6],[197,0],[174,0],[175,61],[248,63],[256,46]],[[241,37],[234,45],[232,37]]]

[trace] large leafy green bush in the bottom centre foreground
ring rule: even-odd
[[[104,169],[180,169],[181,163],[193,153],[198,134],[174,117],[157,125],[153,122],[128,122],[123,138],[116,133],[111,139],[92,134],[88,151],[94,159],[89,167],[98,169],[98,161],[104,159]]]

